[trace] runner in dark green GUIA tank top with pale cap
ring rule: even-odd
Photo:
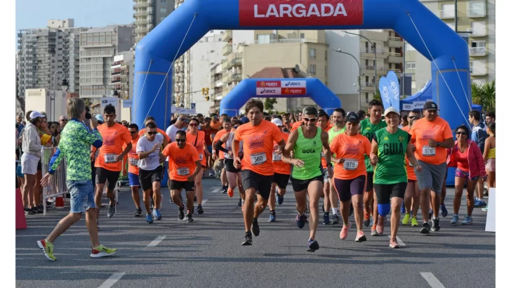
[[[397,228],[401,219],[401,202],[408,184],[406,174],[406,157],[417,171],[420,167],[413,154],[410,139],[406,131],[399,129],[399,112],[394,107],[385,110],[385,121],[388,126],[385,129],[376,131],[371,143],[371,164],[374,169],[374,190],[378,201],[378,225],[376,232],[383,234],[385,216],[391,210],[390,218],[390,244],[392,248],[399,248],[397,243]],[[392,199],[391,199],[392,197]]]

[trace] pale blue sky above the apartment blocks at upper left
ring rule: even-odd
[[[133,22],[133,0],[16,0],[16,31],[43,28],[50,19],[74,19],[74,27]],[[15,33],[15,44],[17,38]]]

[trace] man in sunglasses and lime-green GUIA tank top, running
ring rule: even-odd
[[[310,209],[310,238],[307,242],[307,251],[314,252],[319,249],[315,240],[317,223],[319,221],[318,203],[323,193],[324,176],[321,172],[321,152],[325,150],[325,159],[328,178],[332,178],[333,170],[331,164],[330,145],[328,145],[328,133],[321,131],[316,126],[318,111],[315,107],[308,106],[303,110],[303,126],[291,132],[284,157],[291,158],[291,150],[294,152],[294,165],[291,174],[291,183],[296,197],[296,225],[298,228],[305,226],[305,208],[307,207],[307,195],[309,196]]]

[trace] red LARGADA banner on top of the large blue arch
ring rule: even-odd
[[[364,24],[363,0],[239,0],[239,26]]]

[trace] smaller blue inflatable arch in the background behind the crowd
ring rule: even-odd
[[[340,107],[340,99],[317,78],[244,79],[220,101],[220,114],[237,116],[250,98],[310,97],[331,114]]]

